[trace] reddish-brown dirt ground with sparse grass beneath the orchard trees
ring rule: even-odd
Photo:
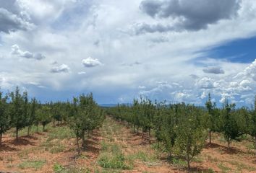
[[[56,127],[59,128],[59,127]],[[123,123],[107,118],[103,127],[94,130],[87,140],[86,151],[77,156],[74,138],[51,138],[55,131],[22,136],[16,142],[11,133],[3,137],[0,146],[0,172],[188,172],[186,162],[168,161],[141,134],[132,133]],[[63,130],[63,129],[62,129]],[[130,169],[106,169],[98,164],[104,153],[102,143],[121,148]],[[192,172],[256,172],[256,155],[249,141],[233,143],[231,150],[220,135],[213,135],[213,144],[206,145],[192,161]],[[132,158],[132,159],[131,159]],[[58,169],[58,166],[59,167]],[[55,169],[54,169],[55,167]],[[56,168],[57,167],[57,168]],[[65,171],[64,171],[65,170]]]

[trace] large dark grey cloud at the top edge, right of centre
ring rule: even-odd
[[[154,18],[178,19],[173,27],[151,27],[151,32],[202,30],[221,19],[236,17],[240,0],[144,0],[142,12]],[[145,30],[145,29],[144,29]]]

